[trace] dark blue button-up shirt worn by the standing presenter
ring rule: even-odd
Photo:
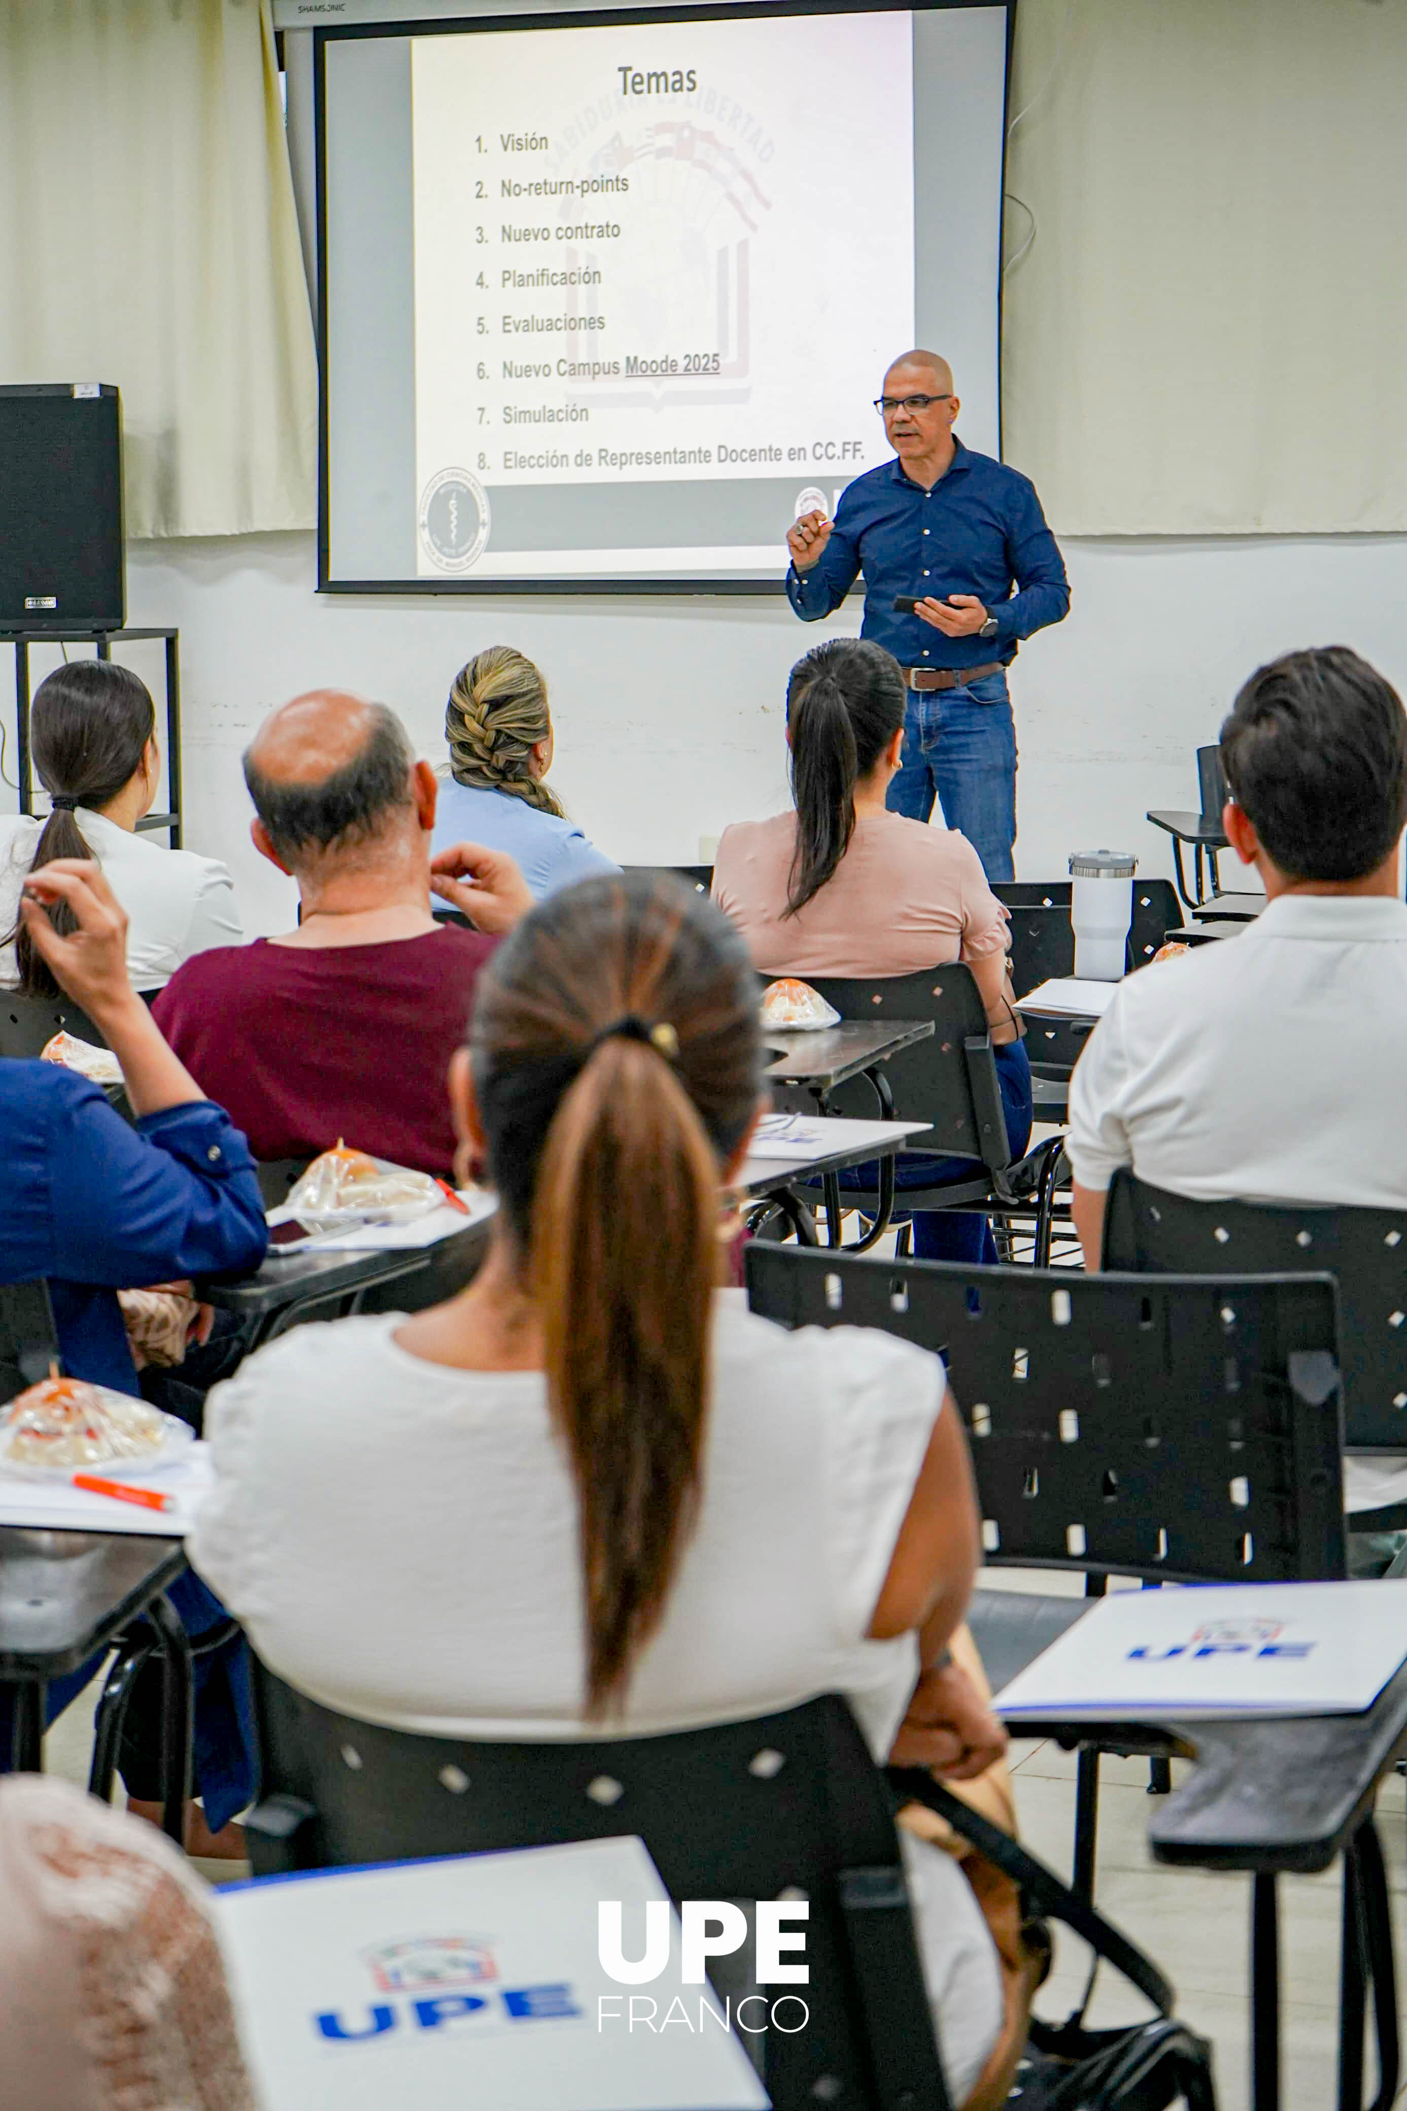
[[[1036,486],[989,454],[972,454],[958,437],[930,492],[903,473],[897,456],[848,483],[818,564],[787,572],[787,600],[804,623],[816,623],[840,608],[861,570],[861,635],[882,644],[901,667],[1013,661],[1021,638],[1069,612],[1065,564]],[[998,621],[996,638],[945,638],[922,616],[897,616],[899,593],[918,602],[975,593]]]

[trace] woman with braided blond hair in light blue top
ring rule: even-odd
[[[460,667],[445,707],[449,783],[435,819],[435,851],[481,842],[517,859],[538,897],[616,872],[567,821],[546,783],[553,720],[546,682],[513,646],[487,646]]]

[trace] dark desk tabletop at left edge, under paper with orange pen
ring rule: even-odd
[[[184,1566],[171,1539],[0,1526],[0,1678],[76,1672]]]

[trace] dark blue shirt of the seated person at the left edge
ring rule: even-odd
[[[255,1269],[249,1146],[213,1100],[129,1127],[82,1077],[0,1062],[0,1281],[49,1279],[63,1368],[137,1391],[116,1290]]]

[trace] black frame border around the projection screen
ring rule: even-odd
[[[570,8],[532,15],[454,15],[449,19],[422,21],[371,21],[314,27],[312,32],[312,137],[314,137],[314,182],[316,182],[316,338],[319,338],[319,593],[576,593],[576,595],[618,595],[618,593],[673,593],[698,595],[783,595],[787,574],[776,578],[333,578],[329,570],[331,521],[329,521],[329,479],[327,479],[327,80],[325,53],[329,44],[365,38],[411,38],[411,36],[464,36],[464,32],[492,30],[591,30],[591,27],[637,27],[660,21],[743,21],[772,15],[941,15],[958,8],[1002,6],[1006,11],[1006,40],[1002,68],[1002,198],[1006,196],[1006,146],[1010,131],[1010,65],[1017,36],[1017,0],[702,0],[700,6],[629,6],[629,8]],[[998,454],[1002,450],[1002,327],[1004,327],[1004,270],[1006,270],[1006,215],[998,217],[998,304],[996,304],[996,365],[998,365]],[[854,591],[854,589],[852,589]]]

